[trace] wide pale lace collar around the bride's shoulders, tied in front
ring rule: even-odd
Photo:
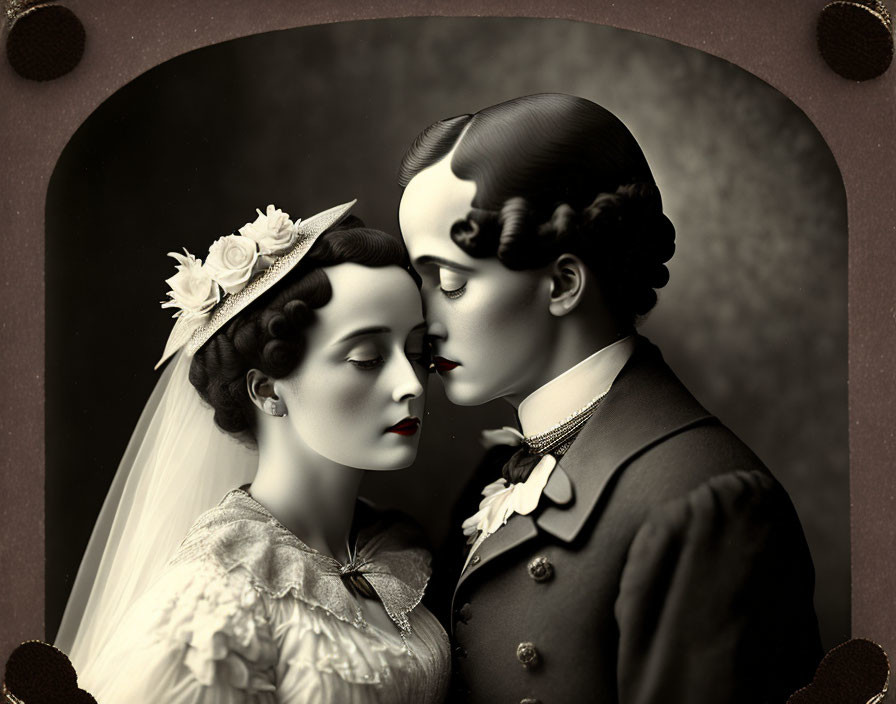
[[[243,489],[229,492],[190,529],[171,564],[211,558],[225,571],[242,569],[253,586],[274,598],[287,594],[358,627],[367,624],[343,582],[361,574],[389,618],[410,631],[408,614],[420,603],[430,576],[420,532],[397,512],[358,503],[360,525],[351,562],[343,565],[299,540]]]

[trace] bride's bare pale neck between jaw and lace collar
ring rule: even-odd
[[[347,562],[349,533],[364,470],[308,447],[281,418],[258,429],[258,472],[249,493],[303,543]]]

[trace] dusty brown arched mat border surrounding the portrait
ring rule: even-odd
[[[192,49],[276,29],[413,16],[543,17],[644,32],[754,73],[827,140],[849,218],[849,422],[853,635],[896,655],[896,68],[855,83],[822,61],[823,0],[66,0],[87,31],[81,64],[49,83],[0,67],[0,662],[44,637],[44,204],[63,148],[100,103]],[[85,242],[85,247],[90,243]],[[77,292],[72,292],[77,295]],[[102,315],[101,302],[85,301]],[[111,324],[111,323],[110,323]]]

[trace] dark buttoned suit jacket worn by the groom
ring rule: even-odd
[[[638,338],[538,509],[461,574],[454,700],[784,702],[821,659],[813,590],[787,493]]]

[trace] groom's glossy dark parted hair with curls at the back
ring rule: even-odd
[[[450,233],[467,254],[517,270],[575,254],[624,328],[656,305],[675,228],[641,148],[615,115],[547,93],[436,122],[405,154],[401,187],[455,146],[452,172],[476,183],[470,213]]]

